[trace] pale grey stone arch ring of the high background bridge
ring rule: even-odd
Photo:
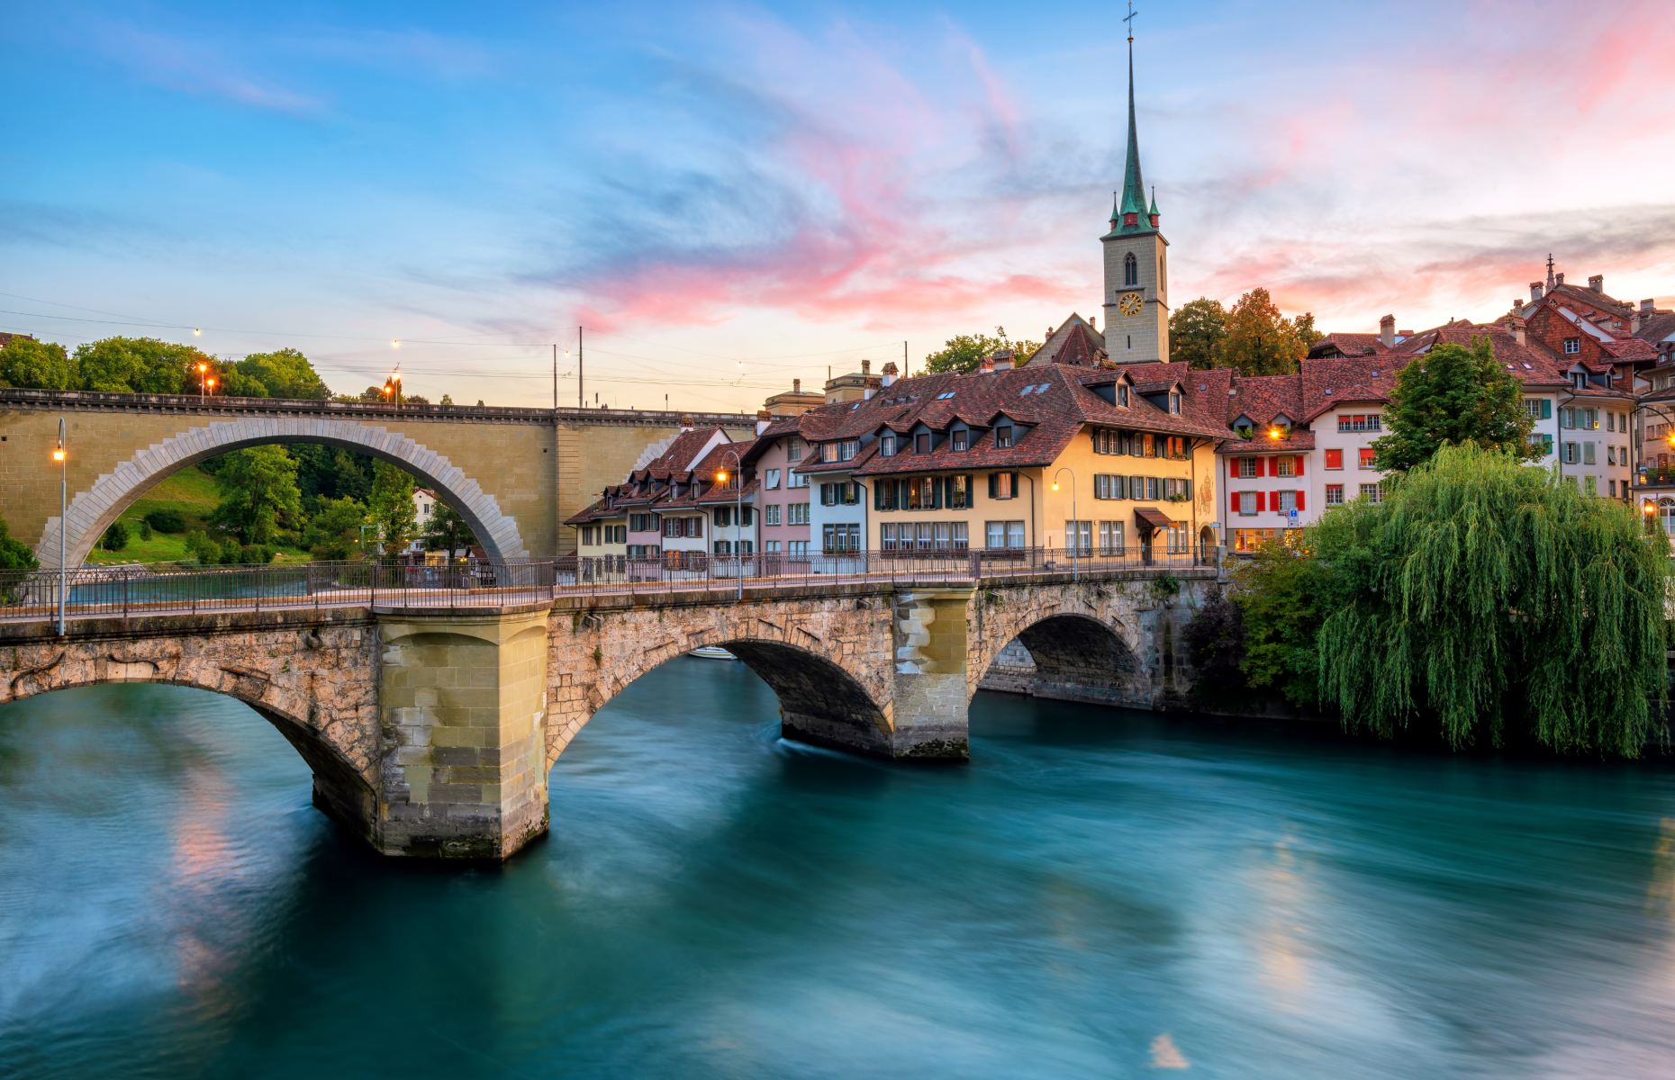
[[[42,568],[59,566],[59,532],[65,531],[67,561],[80,566],[104,531],[157,481],[188,465],[245,447],[315,442],[355,450],[400,465],[454,507],[491,559],[524,559],[529,551],[518,522],[494,496],[459,465],[424,444],[377,424],[343,424],[317,417],[250,415],[216,420],[139,450],[70,499],[64,521],[49,517],[35,548]],[[67,524],[65,524],[67,522]]]

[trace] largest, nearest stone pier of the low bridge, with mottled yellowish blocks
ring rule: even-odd
[[[377,613],[380,767],[367,815],[315,804],[392,856],[506,859],[546,832],[548,608]]]

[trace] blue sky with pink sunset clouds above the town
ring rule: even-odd
[[[1176,305],[1491,320],[1549,251],[1675,295],[1675,3],[1137,10]],[[340,392],[400,363],[432,399],[549,405],[585,327],[588,405],[744,412],[955,333],[1038,340],[1100,313],[1121,15],[12,5],[0,330],[288,345]]]

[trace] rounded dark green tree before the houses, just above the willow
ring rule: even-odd
[[[1444,444],[1476,444],[1519,459],[1541,457],[1518,377],[1496,363],[1489,338],[1437,345],[1395,377],[1384,410],[1389,434],[1374,440],[1379,469],[1405,472]]]

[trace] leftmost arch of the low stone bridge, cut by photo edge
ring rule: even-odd
[[[348,820],[375,819],[375,703],[367,703],[365,715],[347,712],[327,717],[312,693],[253,666],[214,656],[126,658],[119,655],[121,646],[97,645],[15,650],[17,665],[0,681],[0,705],[117,683],[159,683],[219,693],[248,705],[291,743],[313,772],[317,804]]]

